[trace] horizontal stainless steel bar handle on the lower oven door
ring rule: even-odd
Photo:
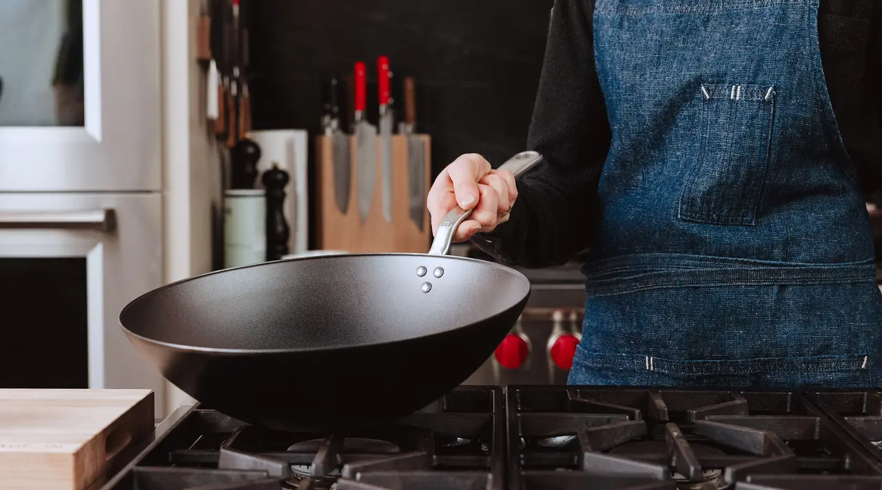
[[[55,229],[55,230],[116,230],[113,209],[87,211],[21,211],[0,212],[0,230]]]

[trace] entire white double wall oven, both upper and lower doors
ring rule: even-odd
[[[165,411],[119,312],[166,275],[168,4],[0,0],[0,387],[150,388]]]

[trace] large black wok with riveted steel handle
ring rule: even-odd
[[[516,174],[542,157],[515,155]],[[446,255],[456,208],[430,253],[325,255],[170,283],[120,322],[163,376],[204,406],[282,430],[366,426],[455,388],[527,303],[512,268]]]

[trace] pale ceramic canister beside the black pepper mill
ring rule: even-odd
[[[224,267],[266,260],[266,192],[231,189],[224,192]]]

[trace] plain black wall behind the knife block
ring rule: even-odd
[[[245,3],[243,3],[245,4]],[[255,129],[319,131],[321,80],[368,67],[376,124],[377,56],[395,87],[411,75],[433,175],[457,155],[495,165],[523,149],[552,0],[256,0],[247,4]],[[397,82],[397,83],[396,83]]]

